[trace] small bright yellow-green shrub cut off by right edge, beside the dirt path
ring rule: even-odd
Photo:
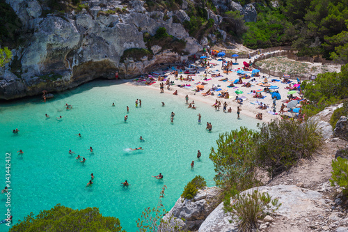
[[[337,157],[337,160],[332,160],[331,162],[331,180],[332,186],[335,184],[343,188],[343,194],[348,195],[348,160],[341,157]]]

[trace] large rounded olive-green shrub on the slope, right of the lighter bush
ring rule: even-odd
[[[272,178],[290,169],[301,158],[310,157],[323,144],[314,121],[271,121],[259,127],[255,163]]]

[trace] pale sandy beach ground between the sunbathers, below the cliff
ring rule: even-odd
[[[216,65],[214,65],[213,68],[209,68],[207,69],[208,73],[207,76],[205,75],[205,68],[203,67],[199,67],[198,71],[199,73],[197,73],[196,75],[193,75],[193,81],[189,82],[189,81],[180,81],[180,79],[175,80],[175,75],[171,74],[171,72],[177,70],[177,67],[174,67],[175,70],[173,70],[173,67],[169,68],[169,70],[154,70],[154,75],[152,75],[155,78],[155,84],[152,85],[145,85],[145,81],[143,82],[138,82],[136,80],[132,80],[130,82],[127,82],[127,84],[132,84],[132,85],[136,85],[136,86],[144,86],[146,88],[152,88],[155,91],[158,91],[159,94],[171,94],[173,95],[173,93],[175,91],[177,91],[177,95],[173,95],[173,98],[178,98],[178,100],[182,100],[184,101],[184,98],[186,95],[189,95],[189,102],[192,102],[192,100],[195,101],[200,101],[200,102],[205,102],[209,105],[213,105],[215,103],[216,100],[221,102],[221,108],[219,111],[216,111],[216,114],[219,113],[223,113],[223,103],[227,102],[228,107],[227,109],[229,109],[230,107],[232,108],[232,113],[226,113],[226,114],[232,114],[233,116],[237,116],[237,107],[239,106],[240,109],[242,109],[241,113],[241,119],[242,119],[242,115],[246,115],[246,116],[250,116],[250,117],[254,117],[256,116],[256,114],[258,113],[262,113],[262,121],[264,122],[269,122],[272,119],[276,119],[276,118],[280,118],[279,111],[280,111],[280,107],[282,105],[282,101],[287,100],[287,92],[289,92],[290,90],[286,89],[285,87],[289,86],[289,84],[284,84],[281,81],[283,79],[280,79],[278,77],[271,77],[269,75],[264,75],[262,72],[260,72],[260,77],[252,77],[250,79],[242,79],[243,80],[243,84],[245,83],[250,83],[251,87],[242,87],[243,84],[235,84],[235,87],[231,87],[228,88],[227,86],[230,85],[233,81],[235,81],[235,79],[239,79],[239,75],[237,75],[237,70],[240,68],[242,69],[244,67],[243,62],[246,61],[247,63],[250,61],[249,59],[237,59],[237,64],[235,63],[235,59],[231,59],[229,57],[223,57],[223,59],[225,59],[226,61],[233,61],[233,71],[229,72],[228,74],[223,73],[223,70],[221,69],[221,65],[222,65],[222,59],[220,57],[217,58],[212,58],[212,59],[207,59],[207,61],[209,61],[209,63],[214,63]],[[253,57],[251,58],[251,61],[253,61]],[[187,67],[188,65],[186,65]],[[179,71],[179,70],[178,70]],[[216,74],[221,74],[220,77],[212,77],[212,75],[216,75]],[[159,74],[159,75],[157,75]],[[170,90],[167,89],[167,86],[164,86],[164,93],[160,93],[160,89],[159,89],[159,84],[161,82],[163,82],[164,84],[166,84],[166,81],[158,81],[158,77],[159,76],[163,76],[163,74],[168,75],[168,77],[164,78],[164,79],[170,79],[171,82],[174,82],[175,85],[171,85],[170,86]],[[251,72],[246,73],[246,75],[251,76]],[[179,77],[180,75],[182,75],[182,77],[187,78],[188,74],[184,74],[179,73]],[[267,78],[267,83],[270,84],[271,86],[278,86],[278,89],[274,89],[271,91],[278,91],[278,93],[280,93],[281,99],[280,100],[276,100],[276,113],[277,115],[273,115],[273,114],[269,114],[269,111],[273,111],[273,99],[271,98],[271,94],[270,93],[265,93],[265,92],[261,92],[261,94],[263,96],[265,96],[265,98],[260,99],[260,98],[253,98],[253,96],[255,95],[255,93],[253,93],[254,91],[258,91],[258,90],[263,90],[264,86],[260,86],[260,84],[262,84],[262,82],[264,82],[264,77]],[[205,77],[207,77],[207,79],[205,80]],[[223,82],[221,81],[221,79],[224,78],[228,78],[228,82]],[[251,80],[255,78],[255,82],[251,82]],[[278,82],[271,82],[271,79],[276,79],[278,80]],[[297,84],[296,79],[293,80],[291,79],[292,84]],[[203,91],[199,91],[196,92],[196,86],[198,86],[198,82],[204,82],[207,83],[204,85],[204,90]],[[180,88],[177,85],[184,85],[184,84],[188,84],[191,86],[187,86],[187,87],[182,87]],[[203,93],[207,92],[210,88],[212,88],[213,86],[216,86],[218,89],[221,88],[221,91],[213,91],[214,95],[207,95],[204,96]],[[237,101],[235,100],[237,94],[235,93],[235,91],[243,91],[242,94],[239,94],[238,97],[243,99],[242,104],[237,103]],[[225,98],[219,98],[218,95],[219,93],[221,93],[222,91],[228,91],[228,93],[230,94],[230,98],[225,99]],[[299,93],[294,93],[294,96],[299,96]],[[258,109],[258,103],[257,102],[262,102],[263,104],[267,105],[267,109]],[[286,106],[286,103],[285,103]],[[287,108],[285,108],[286,110]],[[215,110],[214,107],[212,107],[212,110]],[[288,116],[294,116],[294,113],[284,113],[285,115]],[[260,121],[261,122],[261,121]]]

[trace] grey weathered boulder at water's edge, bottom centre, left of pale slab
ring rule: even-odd
[[[193,200],[180,197],[163,219],[172,226],[180,226],[181,229],[198,229],[209,213],[220,203],[219,194],[221,189],[218,187],[206,187],[204,190],[199,190]]]

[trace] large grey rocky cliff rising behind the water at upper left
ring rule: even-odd
[[[190,20],[185,10],[193,0],[182,0],[180,8],[171,11],[148,11],[139,0],[88,0],[65,12],[50,9],[45,4],[48,1],[6,0],[22,22],[25,35],[21,45],[12,50],[13,61],[0,68],[0,99],[37,95],[44,89],[63,91],[95,78],[112,79],[116,71],[120,78],[136,77],[156,65],[187,59],[207,45],[207,37],[198,42],[182,25]],[[243,8],[227,0],[213,3],[221,12],[239,10],[246,21],[256,19],[252,5]],[[226,32],[219,29],[222,17],[207,12],[226,39]],[[184,49],[147,47],[144,35],[155,35],[159,27],[185,41]],[[132,48],[148,49],[152,54],[138,61],[121,59],[125,50]]]

